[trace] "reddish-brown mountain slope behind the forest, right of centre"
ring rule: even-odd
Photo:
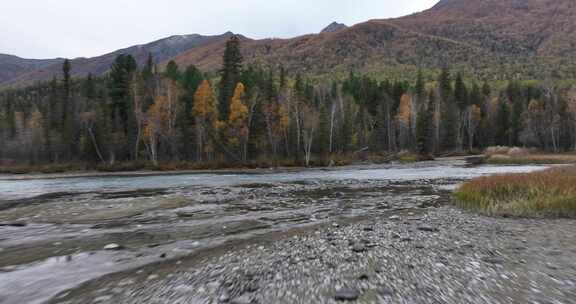
[[[175,60],[214,70],[223,49],[212,44]],[[573,74],[566,62],[576,57],[576,1],[442,0],[423,12],[336,32],[245,41],[243,52],[248,62],[318,74],[447,63],[487,73],[505,63],[527,77],[556,68]]]

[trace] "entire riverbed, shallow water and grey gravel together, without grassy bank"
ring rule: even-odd
[[[0,200],[0,303],[574,303],[573,221],[451,207],[539,168],[463,165],[50,179]]]

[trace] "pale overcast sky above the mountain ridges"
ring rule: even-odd
[[[0,53],[101,55],[175,34],[288,38],[332,21],[352,25],[430,8],[438,0],[0,0]]]

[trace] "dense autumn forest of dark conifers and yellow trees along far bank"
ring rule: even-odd
[[[245,65],[240,44],[227,42],[217,74],[120,55],[103,77],[72,78],[67,60],[52,81],[2,90],[0,164],[312,166],[494,145],[576,149],[576,87],[558,81],[497,85],[448,65],[411,79],[312,80]]]

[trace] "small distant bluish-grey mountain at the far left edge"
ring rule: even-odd
[[[64,59],[24,59],[0,54],[0,84],[19,75],[61,64]]]

